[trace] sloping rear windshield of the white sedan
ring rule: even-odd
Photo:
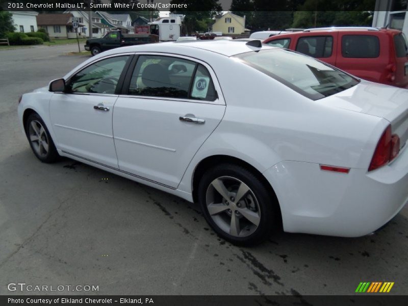
[[[360,82],[337,68],[286,49],[248,52],[235,57],[313,100],[341,92]]]

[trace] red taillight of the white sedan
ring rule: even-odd
[[[388,125],[378,141],[368,171],[387,165],[397,157],[398,153],[399,137],[396,134],[391,135],[391,125]]]

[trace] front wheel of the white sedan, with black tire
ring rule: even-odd
[[[37,127],[37,132],[34,126]],[[43,131],[41,129],[43,128]],[[32,113],[25,122],[25,135],[29,140],[34,155],[43,163],[54,163],[58,160],[59,154],[54,141],[49,135],[49,131],[44,121],[37,113]],[[35,140],[38,138],[38,140]]]

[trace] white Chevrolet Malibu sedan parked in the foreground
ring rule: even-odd
[[[110,50],[24,94],[18,116],[40,161],[198,202],[236,244],[281,225],[370,234],[408,200],[408,90],[259,41]]]

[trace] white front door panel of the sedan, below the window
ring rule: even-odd
[[[117,95],[55,93],[49,112],[59,149],[117,168],[112,111],[93,109],[100,104],[112,110],[117,98]]]

